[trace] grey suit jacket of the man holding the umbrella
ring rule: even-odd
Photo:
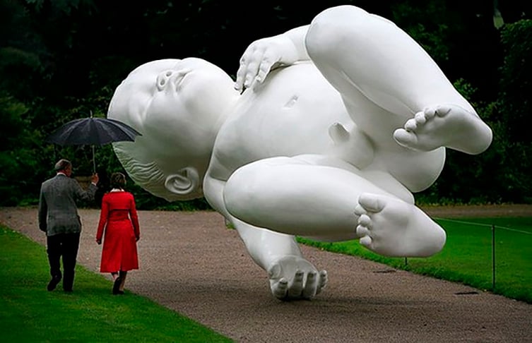
[[[81,219],[76,202],[94,200],[97,186],[90,183],[83,191],[78,181],[57,174],[42,183],[39,197],[39,229],[47,236],[81,232]]]

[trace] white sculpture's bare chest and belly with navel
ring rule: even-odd
[[[352,124],[340,95],[311,64],[273,71],[264,87],[247,90],[220,129],[214,157],[233,172],[274,156],[326,153],[329,126]]]

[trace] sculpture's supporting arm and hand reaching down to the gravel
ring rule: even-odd
[[[206,176],[208,202],[237,230],[254,262],[268,272],[273,296],[278,299],[311,299],[327,284],[327,272],[303,258],[295,237],[254,227],[230,215],[223,203],[225,181]]]

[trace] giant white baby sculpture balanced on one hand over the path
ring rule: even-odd
[[[236,83],[202,59],[143,64],[108,116],[143,133],[114,144],[131,179],[170,201],[204,195],[278,299],[326,286],[295,236],[360,239],[389,256],[440,251],[445,232],[412,193],[437,179],[445,148],[473,155],[492,140],[417,43],[354,6],[253,42]]]

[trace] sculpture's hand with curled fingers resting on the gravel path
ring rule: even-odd
[[[304,258],[294,255],[276,260],[268,268],[271,294],[277,299],[312,299],[327,284],[327,272],[318,272]]]

